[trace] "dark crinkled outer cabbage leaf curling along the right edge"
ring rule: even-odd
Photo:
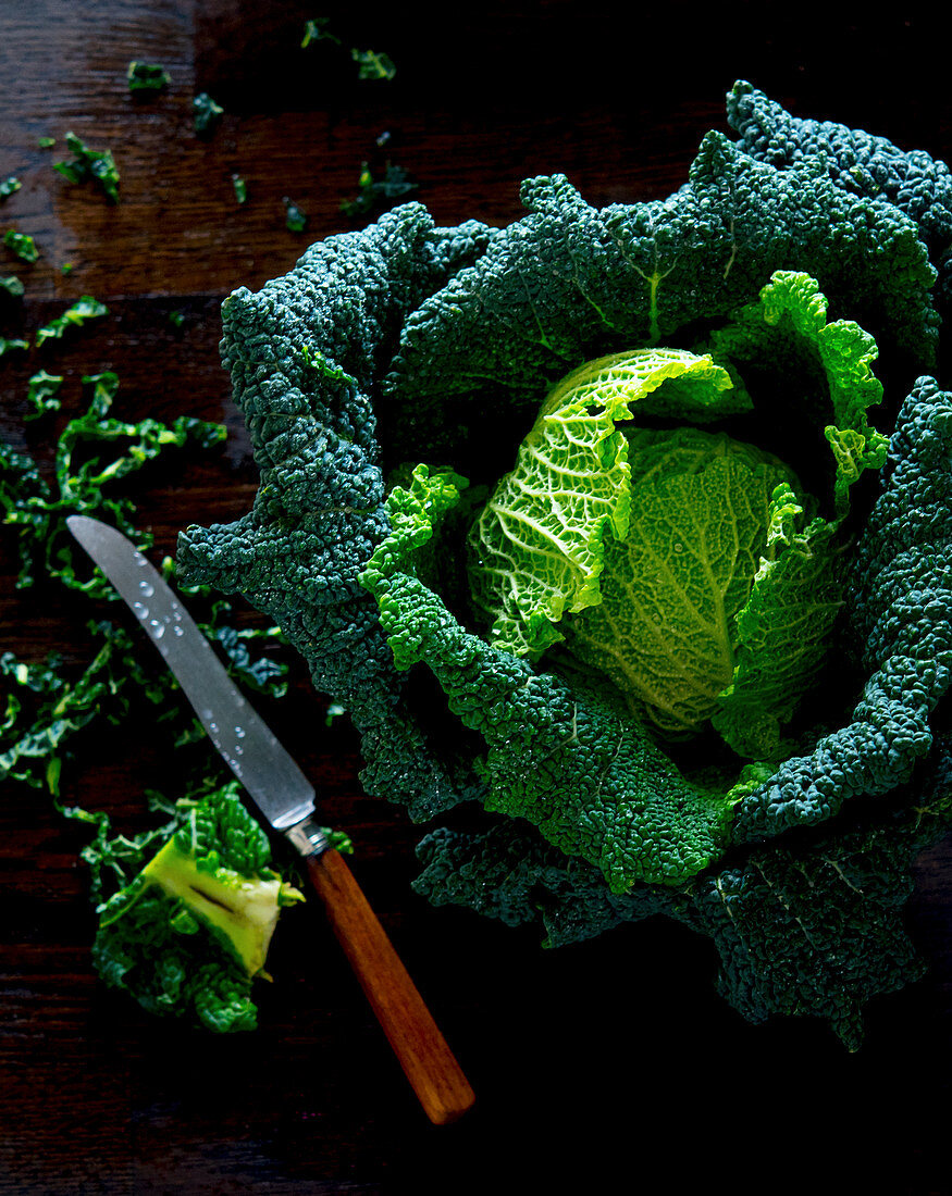
[[[899,413],[847,609],[869,670],[851,720],[738,806],[735,838],[821,822],[905,782],[952,679],[952,396],[920,378]]]

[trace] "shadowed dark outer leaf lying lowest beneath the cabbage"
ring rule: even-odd
[[[903,909],[911,866],[952,826],[952,744],[928,773],[859,817],[752,849],[681,890],[610,892],[582,860],[566,860],[530,829],[495,820],[483,832],[438,829],[418,848],[414,889],[437,905],[469,905],[510,926],[540,922],[545,946],[593,938],[666,914],[709,936],[717,990],[750,1021],[829,1020],[850,1049],[862,1007],[922,976]]]

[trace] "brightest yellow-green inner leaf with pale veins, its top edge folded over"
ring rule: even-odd
[[[497,647],[541,652],[566,611],[600,602],[602,539],[629,525],[627,441],[616,425],[678,410],[715,419],[746,408],[726,370],[680,349],[600,358],[563,379],[469,537],[471,584]]]

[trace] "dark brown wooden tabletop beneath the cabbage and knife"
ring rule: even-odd
[[[109,317],[46,359],[67,377],[69,409],[83,373],[114,368],[125,416],[188,411],[229,425],[219,453],[164,464],[139,484],[158,560],[186,523],[237,517],[255,488],[218,361],[222,299],[353,226],[339,205],[354,194],[362,159],[380,157],[382,132],[445,224],[510,221],[520,179],[553,170],[595,203],[667,195],[703,133],[724,128],[722,94],[735,78],[802,115],[952,154],[934,18],[763,10],[0,0],[0,177],[24,183],[0,207],[0,226],[31,233],[42,251],[32,267],[4,263],[26,298],[1,331],[35,329],[93,294]],[[393,83],[357,84],[350,63],[303,54],[305,18],[323,14],[345,44],[390,53]],[[133,57],[166,66],[166,94],[129,99]],[[192,130],[201,90],[226,109],[208,142]],[[69,185],[51,170],[57,152],[37,148],[67,129],[114,150],[117,206]],[[244,207],[235,171],[248,181]],[[284,226],[285,195],[310,216],[303,236]],[[75,264],[68,277],[65,261]],[[181,329],[172,311],[184,313]],[[48,465],[42,432],[22,419],[35,368],[35,356],[0,364],[0,433]],[[77,609],[53,591],[16,592],[8,541],[2,548],[2,646],[77,659]],[[812,1021],[744,1023],[713,993],[710,945],[680,927],[630,926],[545,952],[534,930],[432,909],[410,889],[418,832],[360,793],[356,739],[339,722],[325,728],[325,706],[295,666],[283,738],[327,819],[353,837],[353,872],[473,1082],[474,1110],[454,1125],[428,1123],[316,902],[280,927],[275,982],[262,986],[251,1036],[183,1032],[105,990],[90,964],[80,829],[42,794],[7,786],[0,1191],[588,1194],[716,1183],[770,1194],[801,1176],[814,1191],[952,1191],[947,843],[918,861],[909,903],[929,975],[874,1001],[867,1042],[849,1055]],[[157,779],[174,785],[174,762],[147,740],[110,734],[68,777],[66,797],[137,826]]]

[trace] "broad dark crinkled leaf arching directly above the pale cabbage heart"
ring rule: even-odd
[[[563,176],[523,184],[523,201],[530,214],[404,327],[387,390],[437,429],[448,392],[471,396],[456,413],[493,388],[538,404],[590,358],[723,321],[777,269],[809,273],[837,313],[932,360],[935,270],[915,224],[812,159],[777,171],[711,133],[665,203],[599,212]]]

